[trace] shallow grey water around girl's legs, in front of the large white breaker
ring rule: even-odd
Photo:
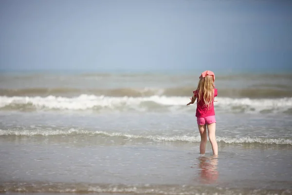
[[[292,190],[288,118],[274,121],[269,116],[243,114],[237,122],[238,116],[220,117],[230,122],[217,123],[216,158],[209,142],[207,153],[199,154],[199,133],[188,114],[4,112],[0,189],[44,193],[52,189],[59,193],[154,190],[153,194]]]

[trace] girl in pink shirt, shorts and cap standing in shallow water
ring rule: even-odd
[[[205,154],[207,143],[207,129],[209,140],[214,155],[218,155],[218,145],[215,137],[216,119],[214,110],[214,97],[218,95],[214,86],[215,74],[212,71],[204,71],[198,83],[196,91],[193,91],[191,101],[186,104],[193,104],[197,99],[196,117],[201,135],[200,153]],[[206,128],[207,127],[207,128]]]

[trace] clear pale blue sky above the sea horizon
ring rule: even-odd
[[[291,70],[292,1],[0,0],[0,44],[1,69]]]

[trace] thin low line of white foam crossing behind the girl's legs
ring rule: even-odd
[[[152,141],[165,141],[165,142],[200,142],[201,137],[192,136],[164,136],[164,135],[133,135],[119,132],[104,132],[104,131],[88,131],[79,129],[70,130],[0,130],[0,137],[3,136],[19,136],[19,137],[33,137],[33,136],[76,136],[76,135],[87,135],[96,137],[116,137],[123,139],[147,139]],[[276,145],[292,145],[292,137],[216,137],[218,142],[227,144],[276,144]]]

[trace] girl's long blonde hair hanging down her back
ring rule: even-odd
[[[203,98],[204,105],[209,109],[214,101],[214,79],[212,76],[200,78],[197,93],[197,102]]]

